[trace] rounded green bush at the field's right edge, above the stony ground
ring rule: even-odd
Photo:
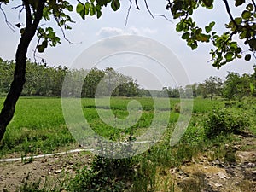
[[[208,138],[230,133],[239,133],[249,125],[247,114],[238,108],[214,109],[205,120],[205,134]]]

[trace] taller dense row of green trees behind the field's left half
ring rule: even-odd
[[[9,92],[14,71],[14,61],[3,61],[0,58],[0,96],[6,96]],[[84,77],[84,82],[82,90],[79,90],[81,75]],[[62,91],[65,77],[70,81],[70,85]],[[100,87],[97,86],[98,84]],[[91,70],[68,69],[26,61],[26,84],[21,96],[61,96],[62,94],[62,96],[94,97],[96,89],[100,96],[139,96],[140,94],[136,80],[110,67],[104,70],[96,67]]]

